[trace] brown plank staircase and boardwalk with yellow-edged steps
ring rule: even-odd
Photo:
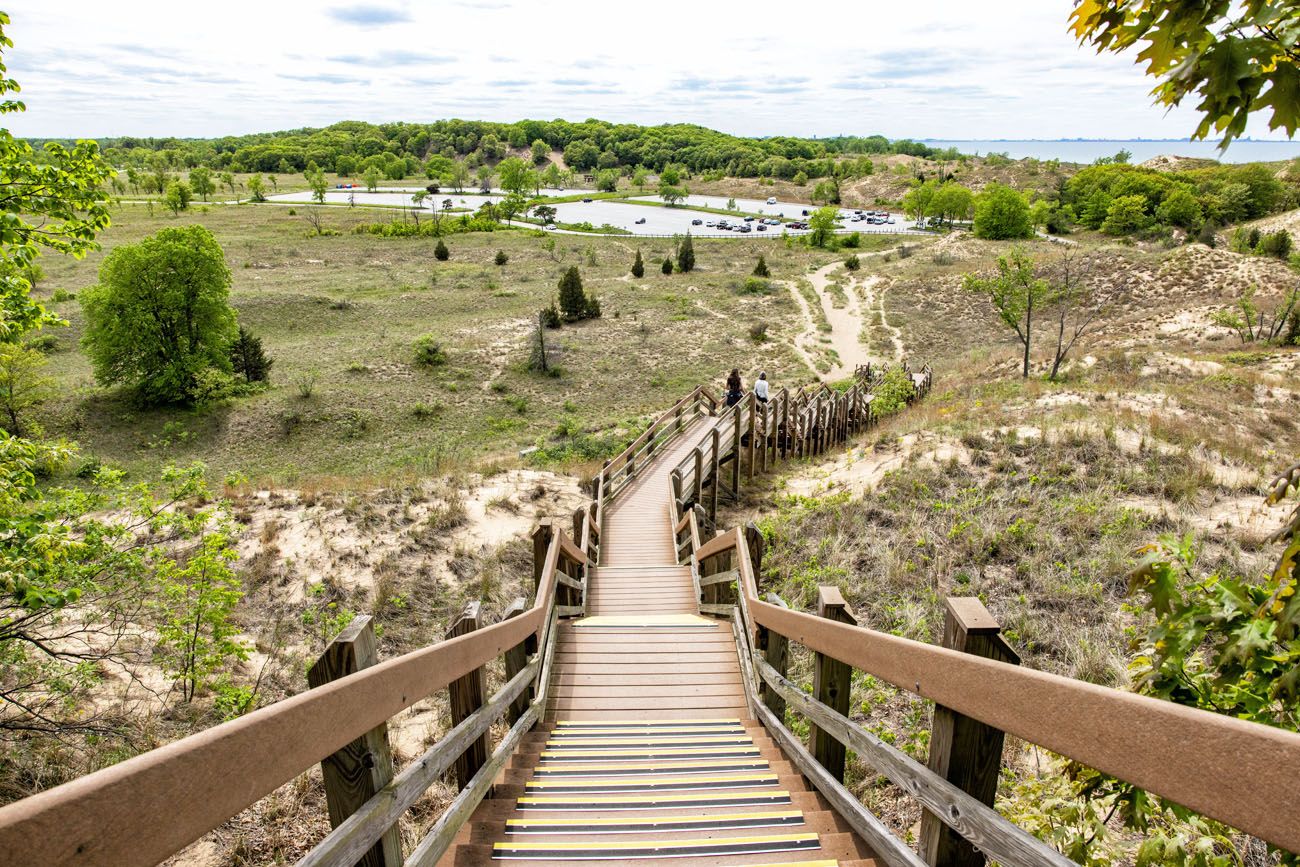
[[[604,512],[545,723],[439,863],[876,863],[751,718],[729,624],[696,614],[676,562],[668,474],[714,421],[686,425]]]

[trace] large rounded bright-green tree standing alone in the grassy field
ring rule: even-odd
[[[202,373],[230,370],[237,328],[229,299],[230,269],[203,226],[114,248],[99,285],[79,299],[96,381],[131,386],[146,403],[192,402]]]

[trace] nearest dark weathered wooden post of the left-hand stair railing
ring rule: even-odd
[[[329,643],[320,659],[307,669],[307,684],[321,686],[339,677],[356,673],[380,662],[374,646],[374,629],[365,615],[352,623]],[[387,724],[377,725],[338,753],[321,762],[325,777],[325,802],[329,824],[338,828],[343,820],[374,797],[393,780],[393,751],[389,749]],[[384,832],[361,861],[363,867],[400,867],[402,833],[396,825]]]

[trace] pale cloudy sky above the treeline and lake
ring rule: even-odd
[[[342,120],[692,122],[737,135],[1186,139],[1069,0],[10,0],[20,136]],[[190,14],[202,9],[203,14]],[[1270,135],[1256,120],[1248,129]]]

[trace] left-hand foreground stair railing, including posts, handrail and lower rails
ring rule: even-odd
[[[436,863],[545,708],[556,620],[582,612],[594,513],[584,510],[582,549],[547,533],[532,604],[516,599],[498,623],[480,628],[473,604],[446,641],[378,662],[358,619],[313,666],[313,689],[0,807],[0,863],[156,864],[317,762],[334,831],[302,864],[402,863],[398,820],[455,767],[460,794],[406,857]],[[507,681],[485,698],[498,656]],[[387,720],[443,688],[455,727],[394,776]],[[489,753],[503,716],[511,728]]]

